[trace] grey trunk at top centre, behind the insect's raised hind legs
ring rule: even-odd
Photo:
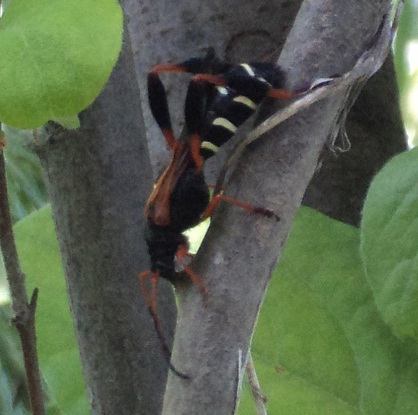
[[[203,56],[208,47],[214,47],[219,57],[231,62],[260,60],[270,53],[277,58],[300,3],[300,0],[125,2],[141,90],[146,90],[146,74],[154,65]],[[174,129],[179,133],[189,78],[171,74],[164,80]],[[156,177],[167,165],[169,154],[148,109],[145,94],[142,99]],[[213,171],[209,172],[210,179],[214,177],[217,165],[215,160]]]

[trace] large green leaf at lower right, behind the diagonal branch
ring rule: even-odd
[[[418,348],[382,321],[359,239],[358,229],[299,211],[253,341],[270,414],[416,412]],[[248,394],[240,414],[254,414]]]

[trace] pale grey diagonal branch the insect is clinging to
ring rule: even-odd
[[[279,61],[287,86],[298,89],[315,78],[349,71],[369,46],[388,3],[305,2]],[[237,350],[247,355],[269,277],[345,99],[342,91],[315,103],[280,125],[280,140],[271,131],[240,159],[226,193],[274,210],[281,222],[230,206],[214,217],[193,263],[208,286],[208,304],[196,287],[178,288],[173,362],[192,382],[169,377],[164,415],[233,410]]]

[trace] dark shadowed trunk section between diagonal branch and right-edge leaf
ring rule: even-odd
[[[346,131],[350,150],[333,153],[324,148],[303,203],[359,226],[374,175],[391,157],[406,150],[392,55],[360,93],[348,115]]]

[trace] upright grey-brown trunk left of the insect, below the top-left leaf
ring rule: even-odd
[[[143,207],[152,189],[129,37],[109,83],[38,149],[51,197],[93,414],[157,414],[167,376],[142,298]],[[171,287],[161,284],[161,294]],[[160,301],[167,335],[173,295]],[[169,336],[170,337],[170,336]]]

